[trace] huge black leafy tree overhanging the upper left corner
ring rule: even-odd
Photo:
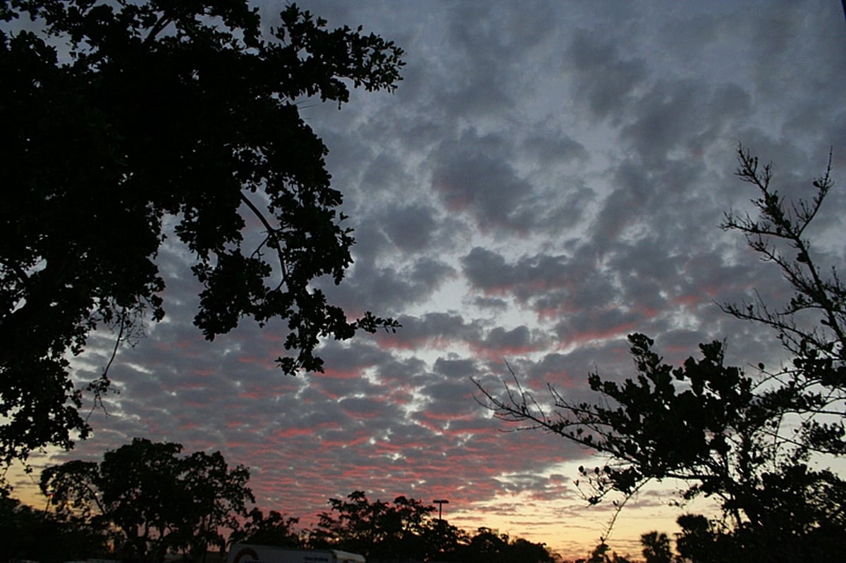
[[[312,285],[341,282],[354,239],[297,103],[393,90],[403,65],[325,25],[291,4],[265,37],[247,0],[0,3],[0,461],[88,434],[68,356],[98,327],[119,343],[162,319],[169,221],[209,340],[283,320],[293,374],[321,370],[323,337],[396,326],[349,321]],[[107,385],[106,367],[90,389]]]

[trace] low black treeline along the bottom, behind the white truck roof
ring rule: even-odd
[[[368,561],[547,563],[544,544],[491,528],[467,533],[435,516],[435,506],[398,496],[368,500],[362,491],[330,499],[316,526],[255,507],[249,470],[220,452],[136,438],[102,462],[71,461],[41,473],[42,509],[0,497],[0,560],[106,558],[200,561],[238,543],[343,549]]]

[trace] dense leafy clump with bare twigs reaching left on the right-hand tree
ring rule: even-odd
[[[766,411],[753,400],[753,381],[724,365],[721,342],[701,345],[701,358],[688,358],[676,369],[663,363],[649,337],[630,335],[629,345],[636,377],[618,383],[589,376],[600,402],[570,402],[551,388],[554,401],[547,413],[516,379],[507,400],[479,389],[498,418],[607,456],[602,467],[579,468],[576,485],[588,484],[585,498],[591,504],[666,478],[699,482],[696,494],[731,495],[739,470],[734,462],[766,455],[766,444],[750,440],[767,422]]]

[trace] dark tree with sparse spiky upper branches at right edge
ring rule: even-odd
[[[624,506],[644,484],[664,478],[690,483],[685,500],[717,498],[723,528],[686,522],[695,526],[684,549],[717,549],[714,557],[699,553],[700,560],[834,560],[846,542],[846,482],[819,467],[846,453],[846,287],[836,267],[826,273],[816,264],[807,238],[833,186],[831,156],[812,183],[813,197],[792,203],[772,189],[770,166],[759,167],[742,146],[738,161],[739,178],[758,191],[760,215],[729,212],[723,227],[742,232],[776,264],[794,295],[777,309],[760,299],[723,309],[775,329],[792,365],[768,370],[760,363],[750,376],[725,365],[723,343],[711,342],[700,345],[700,358],[673,368],[650,338],[634,334],[636,375],[618,383],[591,374],[597,402],[572,402],[550,387],[551,402],[542,404],[514,374],[504,397],[477,385],[498,418],[607,457],[602,467],[580,467],[591,503],[617,492]]]

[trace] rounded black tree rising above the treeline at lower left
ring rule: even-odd
[[[220,452],[181,451],[179,444],[136,438],[100,463],[47,467],[41,490],[59,515],[117,528],[118,552],[126,557],[158,561],[168,552],[205,554],[210,544],[222,549],[222,530],[237,529],[254,500],[250,472],[230,469]]]

